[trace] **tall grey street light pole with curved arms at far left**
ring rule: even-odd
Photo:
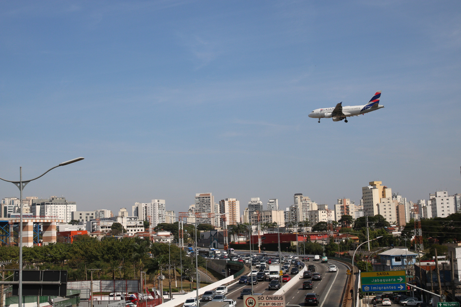
[[[30,180],[24,180],[23,181],[23,168],[22,166],[19,166],[19,181],[12,181],[12,180],[6,180],[0,177],[1,180],[6,181],[6,182],[11,182],[13,183],[16,187],[19,189],[19,285],[18,285],[18,306],[22,307],[23,303],[23,189],[27,185],[27,183],[30,183],[31,181],[38,179],[45,175],[48,171],[51,171],[53,168],[59,167],[59,166],[64,166],[68,165],[80,160],[83,160],[85,158],[79,157],[76,159],[71,159],[69,161],[65,161],[62,163],[59,163],[59,165],[53,166],[49,170],[45,171],[43,174],[41,174],[38,177],[35,177]],[[36,213],[35,213],[36,214]],[[66,214],[67,214],[67,209],[66,209]],[[66,215],[67,216],[67,215]],[[67,222],[67,220],[66,220]]]

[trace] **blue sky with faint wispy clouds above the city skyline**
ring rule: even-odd
[[[1,1],[0,177],[115,212],[165,199],[461,193],[459,1]],[[307,114],[361,105],[344,122]],[[0,196],[18,196],[0,183]]]

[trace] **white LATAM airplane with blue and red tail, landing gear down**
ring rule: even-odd
[[[333,118],[334,122],[339,122],[344,119],[344,123],[347,123],[347,118],[349,116],[359,116],[360,114],[384,108],[384,106],[379,104],[380,96],[381,91],[377,91],[372,99],[363,106],[342,106],[343,101],[341,101],[334,108],[315,109],[309,113],[309,117],[319,118],[319,123],[320,118]]]

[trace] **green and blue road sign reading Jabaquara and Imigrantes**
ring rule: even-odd
[[[405,271],[361,272],[362,292],[405,291]]]

